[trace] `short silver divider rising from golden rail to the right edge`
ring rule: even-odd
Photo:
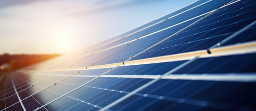
[[[253,21],[252,23],[250,23],[249,25],[245,26],[245,27],[242,28],[241,30],[236,31],[234,34],[232,34],[232,35],[230,35],[229,37],[225,38],[225,39],[222,40],[221,42],[214,44],[214,45],[213,45],[212,47],[210,47],[209,49],[216,48],[216,47],[220,47],[221,44],[228,42],[230,39],[236,37],[237,35],[241,34],[241,33],[244,32],[244,31],[246,31],[247,29],[249,29],[250,27],[252,27],[252,26],[255,25],[255,24],[256,24],[256,20]]]

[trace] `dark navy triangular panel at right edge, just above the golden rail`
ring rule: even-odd
[[[256,25],[253,25],[252,27],[248,28],[246,31],[243,31],[242,33],[236,35],[235,37],[228,40],[227,42],[221,43],[221,46],[255,41],[256,40],[255,31],[256,31]]]

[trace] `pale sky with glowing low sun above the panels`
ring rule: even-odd
[[[195,0],[1,0],[0,54],[72,53]]]

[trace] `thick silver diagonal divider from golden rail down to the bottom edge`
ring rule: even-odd
[[[129,98],[129,97],[131,97],[133,94],[138,93],[139,91],[141,91],[141,90],[144,89],[145,87],[150,86],[150,85],[152,85],[153,83],[157,82],[158,80],[161,79],[162,76],[167,75],[167,74],[171,74],[171,73],[177,71],[178,69],[180,69],[180,68],[186,66],[187,64],[193,62],[193,61],[196,60],[197,58],[198,58],[198,57],[196,56],[196,57],[194,57],[194,59],[182,63],[182,64],[179,65],[178,67],[173,68],[172,70],[166,72],[165,74],[159,75],[158,78],[153,79],[153,80],[151,80],[150,82],[146,83],[145,85],[138,87],[137,89],[135,89],[135,90],[132,91],[131,93],[128,93],[128,94],[126,94],[125,96],[123,96],[122,98],[119,98],[118,100],[116,100],[116,101],[112,102],[111,104],[105,106],[105,107],[102,108],[100,111],[106,111],[106,110],[108,110],[109,108],[111,108],[112,106],[118,104],[119,102],[121,102],[121,101],[123,101],[123,100],[125,100],[125,99],[127,99],[127,98]]]

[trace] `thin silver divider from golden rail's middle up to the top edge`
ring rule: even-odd
[[[237,1],[240,1],[240,0],[237,0]],[[235,1],[235,2],[237,2],[237,1]],[[233,3],[234,3],[234,2],[233,2]],[[230,4],[233,4],[233,3],[230,3]],[[228,4],[228,5],[229,5],[229,4]],[[228,6],[228,5],[225,5],[225,6]],[[225,6],[221,6],[220,8],[225,7]],[[194,23],[192,23],[192,24],[188,25],[187,27],[185,27],[185,28],[181,29],[180,31],[177,31],[176,33],[172,34],[171,36],[166,37],[165,39],[163,39],[163,40],[161,40],[160,42],[158,42],[158,43],[156,43],[156,44],[152,45],[151,47],[149,47],[149,48],[147,48],[147,49],[145,49],[145,50],[141,51],[140,53],[138,53],[137,55],[135,55],[135,56],[133,56],[133,57],[136,57],[136,56],[138,56],[138,55],[142,54],[143,52],[145,52],[145,51],[147,51],[147,50],[149,50],[149,49],[152,49],[152,48],[153,48],[153,47],[155,47],[156,45],[158,45],[158,44],[160,44],[160,43],[164,42],[164,41],[165,41],[165,40],[167,40],[168,38],[170,38],[170,37],[173,37],[173,36],[177,35],[178,33],[180,33],[180,32],[182,32],[182,31],[184,31],[185,29],[187,29],[188,27],[190,27],[190,26],[192,26],[192,25],[196,24],[197,22],[201,21],[202,19],[207,18],[208,16],[210,16],[212,13],[216,12],[216,11],[217,11],[217,10],[219,10],[220,8],[215,9],[213,12],[210,12],[209,14],[207,14],[207,15],[206,15],[206,16],[204,16],[204,17],[202,17],[201,19],[199,19],[199,20],[195,21]],[[127,59],[126,61],[129,61],[129,60],[131,60],[131,59],[132,59],[132,58],[129,58],[129,59]],[[126,62],[126,61],[125,61],[125,62]]]

